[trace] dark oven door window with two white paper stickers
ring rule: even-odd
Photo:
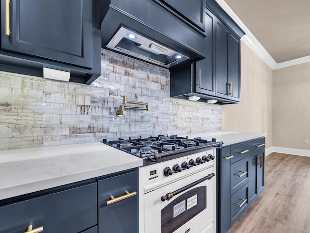
[[[207,187],[184,193],[161,211],[161,232],[172,233],[207,207]]]

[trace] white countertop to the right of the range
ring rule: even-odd
[[[224,142],[223,146],[228,146],[234,143],[248,141],[254,138],[264,137],[267,133],[250,133],[250,132],[234,132],[234,131],[216,131],[216,132],[205,132],[205,133],[187,133],[178,134],[180,137],[195,138],[201,137],[202,139],[211,140],[216,138],[217,142]]]

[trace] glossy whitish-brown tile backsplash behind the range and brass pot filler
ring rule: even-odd
[[[150,110],[116,116],[122,96]],[[91,85],[0,72],[0,150],[221,130],[221,105],[170,98],[170,73],[102,50]]]

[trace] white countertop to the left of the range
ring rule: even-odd
[[[0,151],[0,200],[142,166],[100,142]]]

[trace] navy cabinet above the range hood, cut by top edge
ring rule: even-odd
[[[160,0],[172,10],[205,31],[205,0]]]

